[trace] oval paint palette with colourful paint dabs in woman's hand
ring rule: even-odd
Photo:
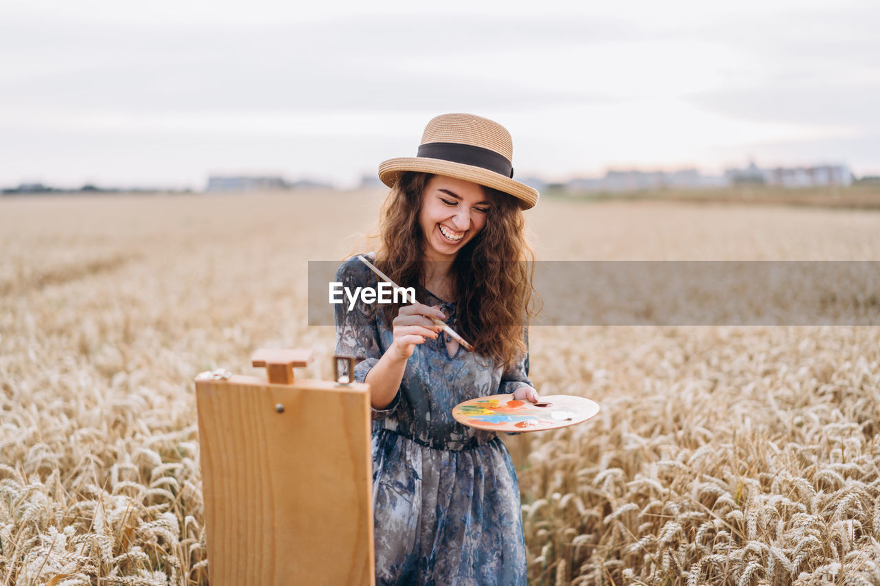
[[[547,395],[538,403],[514,400],[513,395],[489,395],[466,400],[452,408],[459,423],[490,431],[543,431],[565,428],[598,414],[596,401],[574,395]]]

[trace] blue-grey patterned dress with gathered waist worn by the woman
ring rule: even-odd
[[[370,255],[370,260],[372,260]],[[376,287],[356,258],[336,281]],[[429,296],[455,329],[455,304]],[[363,382],[394,340],[382,305],[335,306],[336,353],[354,355]],[[378,311],[376,311],[378,310]],[[377,584],[525,584],[525,541],[517,472],[494,431],[452,418],[461,401],[532,386],[528,356],[502,371],[444,337],[417,345],[397,395],[373,410],[373,516]]]

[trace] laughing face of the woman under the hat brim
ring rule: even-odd
[[[432,177],[422,193],[419,214],[426,259],[454,259],[486,225],[490,205],[476,183],[443,175]]]

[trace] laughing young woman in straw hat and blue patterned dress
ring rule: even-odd
[[[421,303],[336,305],[337,354],[370,385],[378,584],[525,584],[517,474],[495,432],[452,407],[497,393],[538,400],[525,334],[532,252],[510,134],[470,114],[429,122],[416,157],[379,166],[392,187],[366,255]],[[376,287],[356,257],[338,282]],[[473,353],[436,326],[444,320]]]

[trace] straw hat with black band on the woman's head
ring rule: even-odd
[[[538,203],[538,192],[513,178],[513,141],[506,128],[473,114],[442,114],[428,122],[415,157],[379,165],[379,179],[394,187],[401,173],[435,173],[492,187],[519,200],[522,209]]]

